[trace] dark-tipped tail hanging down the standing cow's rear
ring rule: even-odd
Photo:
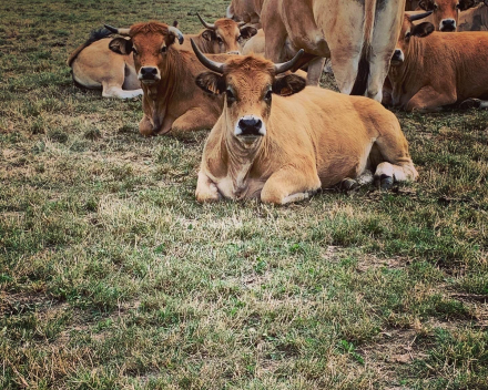
[[[375,27],[376,0],[365,1],[364,17],[364,43],[360,53],[356,81],[354,82],[352,95],[365,95],[369,79],[369,51],[373,42],[373,30]]]

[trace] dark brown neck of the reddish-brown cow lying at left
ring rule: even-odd
[[[189,75],[187,63],[179,50],[170,47],[165,60],[160,65],[161,80],[154,85],[144,85],[150,116],[153,121],[154,131],[159,131],[163,124],[167,107],[173,101],[175,93],[186,91],[183,83],[192,80]]]

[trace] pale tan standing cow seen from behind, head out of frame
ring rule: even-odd
[[[266,0],[261,12],[266,58],[283,61],[289,38],[316,55],[308,65],[309,85],[318,84],[324,58],[331,58],[340,92],[380,102],[404,10],[405,0]]]

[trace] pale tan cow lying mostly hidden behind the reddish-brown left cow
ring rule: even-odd
[[[243,27],[231,19],[218,19],[214,24],[199,19],[206,28],[199,34],[185,34],[186,42],[193,38],[204,53],[240,53],[244,39],[256,33],[252,27]],[[177,22],[173,23],[177,28]],[[142,95],[141,83],[134,68],[132,52],[128,55],[113,53],[109,49],[113,32],[106,29],[94,31],[68,59],[77,85],[102,89],[102,96],[130,99]],[[175,42],[175,48],[191,51],[190,44]]]

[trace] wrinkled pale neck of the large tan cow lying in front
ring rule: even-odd
[[[233,192],[236,197],[247,187],[247,179],[254,162],[258,158],[263,147],[265,146],[265,138],[260,137],[252,145],[245,145],[233,135],[234,126],[232,125],[226,114],[226,103],[224,107],[225,115],[225,133],[224,144],[227,151],[227,176],[232,181]],[[231,124],[231,126],[228,126]],[[231,129],[231,131],[228,130]]]

